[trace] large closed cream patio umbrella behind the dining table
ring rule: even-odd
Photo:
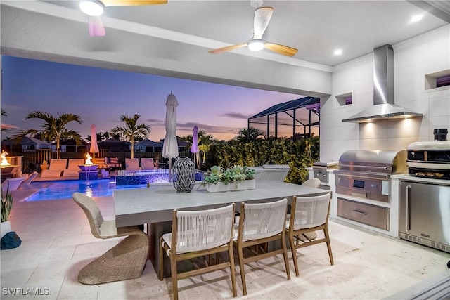
[[[176,141],[176,107],[178,101],[170,91],[166,100],[166,136],[162,145],[162,157],[169,159],[169,170],[172,168],[172,158],[179,156],[178,141]]]

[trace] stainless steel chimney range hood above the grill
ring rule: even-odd
[[[394,104],[394,50],[391,45],[373,49],[373,106],[342,122],[375,122],[382,119],[422,117]]]

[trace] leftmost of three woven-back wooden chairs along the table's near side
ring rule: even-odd
[[[172,233],[160,237],[160,280],[163,279],[164,254],[170,259],[174,300],[178,299],[178,280],[230,268],[233,296],[236,297],[236,275],[233,256],[234,203],[217,209],[173,212]],[[176,263],[200,256],[228,252],[228,261],[178,272]]]

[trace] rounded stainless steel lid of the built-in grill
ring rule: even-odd
[[[406,171],[406,150],[348,150],[339,158],[339,169],[398,174]]]

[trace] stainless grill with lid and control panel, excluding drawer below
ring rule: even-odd
[[[339,159],[336,193],[390,201],[390,176],[406,172],[406,150],[349,150]]]

